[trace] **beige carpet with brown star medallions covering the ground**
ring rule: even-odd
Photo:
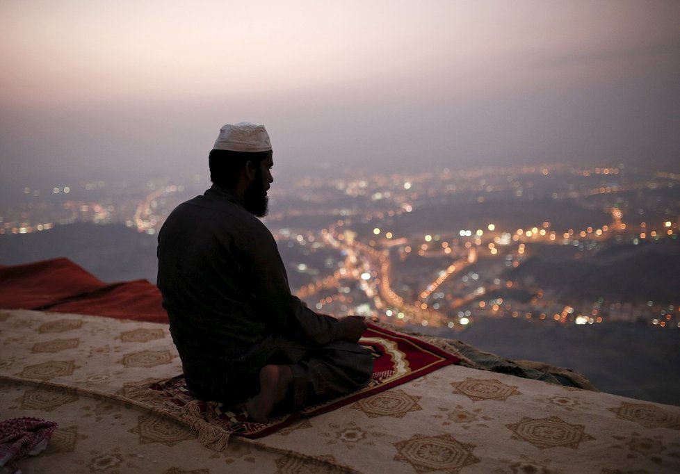
[[[0,418],[60,427],[32,473],[678,473],[680,407],[446,366],[225,450],[130,387],[181,373],[165,325],[0,311]]]

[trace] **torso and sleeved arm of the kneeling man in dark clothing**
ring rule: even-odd
[[[170,213],[158,258],[170,333],[197,393],[219,395],[223,374],[241,376],[274,357],[275,338],[296,359],[341,337],[339,321],[291,295],[270,231],[218,186]]]

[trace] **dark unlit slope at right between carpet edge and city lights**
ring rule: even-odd
[[[562,327],[481,318],[455,336],[445,329],[430,333],[460,339],[509,359],[571,368],[608,393],[680,404],[680,341],[674,330],[630,322]]]

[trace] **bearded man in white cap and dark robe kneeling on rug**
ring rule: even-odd
[[[273,155],[264,126],[225,125],[209,155],[213,186],[159,233],[158,286],[195,396],[243,405],[259,422],[355,391],[373,359],[359,316],[317,314],[291,295],[266,215]]]

